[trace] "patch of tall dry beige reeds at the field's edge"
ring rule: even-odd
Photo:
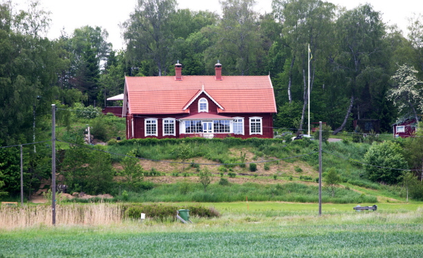
[[[71,204],[56,206],[57,225],[101,226],[122,221],[120,204]],[[0,206],[0,229],[52,224],[51,206]]]

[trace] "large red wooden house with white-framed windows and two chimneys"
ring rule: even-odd
[[[125,77],[126,139],[273,137],[276,102],[269,76]]]

